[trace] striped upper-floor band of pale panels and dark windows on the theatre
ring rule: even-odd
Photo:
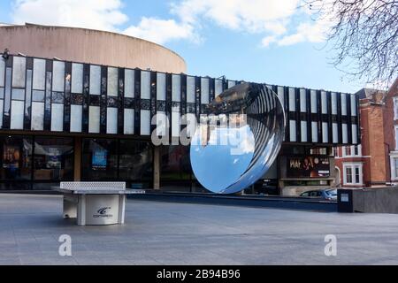
[[[149,135],[155,114],[181,130],[234,80],[156,73],[31,57],[0,59],[0,126],[4,129]],[[354,95],[269,86],[287,110],[286,142],[358,142]],[[160,120],[163,120],[161,118]]]

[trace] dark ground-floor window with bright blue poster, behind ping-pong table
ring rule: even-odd
[[[117,180],[118,141],[104,139],[84,139],[81,164],[82,180]]]

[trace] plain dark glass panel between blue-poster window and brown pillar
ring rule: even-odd
[[[131,140],[120,141],[119,178],[129,181],[152,180],[152,147],[149,142],[137,142]]]

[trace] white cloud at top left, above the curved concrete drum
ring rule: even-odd
[[[16,0],[11,17],[16,24],[87,27],[115,31],[126,23],[120,0]]]

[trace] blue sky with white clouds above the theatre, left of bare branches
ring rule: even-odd
[[[184,57],[188,73],[356,92],[331,63],[328,23],[301,0],[0,0],[0,22],[89,27],[157,42]]]

